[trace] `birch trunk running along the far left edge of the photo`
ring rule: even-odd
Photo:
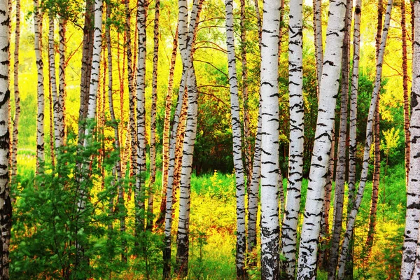
[[[0,278],[9,279],[9,244],[10,230],[12,228],[12,204],[10,202],[10,176],[8,170],[8,155],[10,137],[8,129],[10,91],[9,80],[9,45],[10,45],[10,18],[8,1],[0,1],[0,236],[1,260]]]

